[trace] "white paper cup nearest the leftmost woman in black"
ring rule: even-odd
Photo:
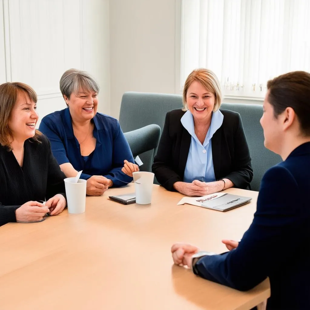
[[[86,180],[79,179],[78,183],[74,182],[75,177],[64,179],[68,213],[84,213],[86,203]]]

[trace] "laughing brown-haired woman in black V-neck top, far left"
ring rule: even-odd
[[[66,206],[65,175],[48,139],[35,129],[36,108],[37,94],[30,86],[0,85],[0,226],[41,221]]]

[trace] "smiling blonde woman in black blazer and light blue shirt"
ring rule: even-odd
[[[219,110],[219,80],[207,69],[189,74],[184,108],[166,114],[152,170],[169,191],[204,196],[250,188],[253,169],[240,114]]]

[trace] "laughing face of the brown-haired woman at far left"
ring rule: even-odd
[[[19,91],[8,121],[14,139],[25,141],[35,135],[39,118],[36,109],[37,104],[25,92]]]

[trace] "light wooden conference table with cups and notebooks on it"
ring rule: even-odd
[[[9,309],[250,309],[270,296],[268,279],[239,292],[173,265],[170,247],[186,241],[224,252],[249,227],[253,198],[227,212],[177,206],[183,197],[154,185],[151,205],[122,205],[108,196],[134,184],[87,197],[84,214],[0,227],[0,308]]]

